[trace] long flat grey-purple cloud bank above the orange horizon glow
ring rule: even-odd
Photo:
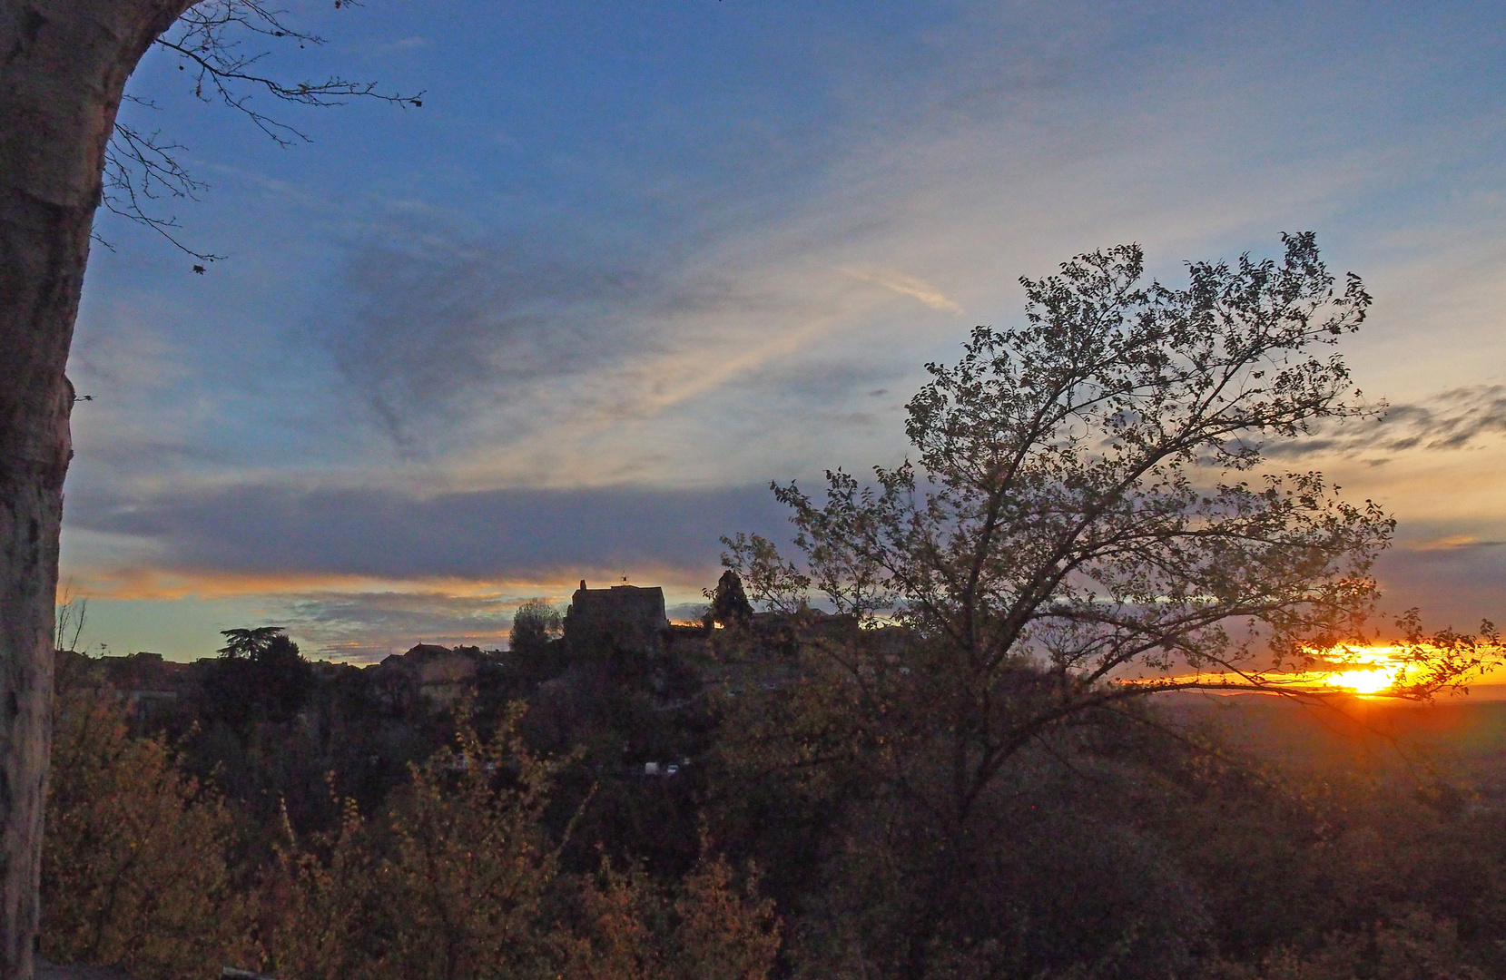
[[[721,534],[782,533],[767,489],[501,489],[411,497],[241,485],[71,500],[72,527],[139,542],[179,574],[569,581],[652,572],[700,581]],[[714,577],[714,574],[712,574]]]

